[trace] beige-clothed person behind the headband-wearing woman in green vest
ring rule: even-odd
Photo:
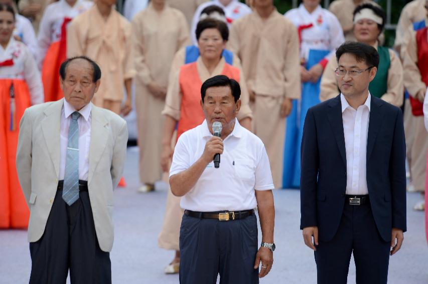
[[[352,12],[354,12],[358,5],[364,3],[377,5],[374,1],[371,0],[335,0],[330,4],[329,10],[339,20],[339,23],[343,29],[345,41],[356,41],[354,33],[352,32],[354,27]]]

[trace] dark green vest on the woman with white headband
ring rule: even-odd
[[[379,67],[377,68],[376,76],[370,82],[369,91],[372,96],[377,98],[382,97],[388,90],[388,70],[391,64],[389,58],[389,50],[385,47],[378,47]]]

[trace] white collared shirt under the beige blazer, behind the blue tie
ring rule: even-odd
[[[79,125],[79,179],[88,180],[89,172],[89,146],[91,143],[91,109],[92,103],[87,104],[79,113],[77,119]],[[59,158],[59,177],[64,179],[65,161],[67,157],[68,129],[70,128],[71,114],[76,110],[64,99],[64,106],[61,110],[61,129],[60,129],[60,158]]]

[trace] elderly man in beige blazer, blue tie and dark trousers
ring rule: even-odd
[[[30,283],[111,283],[113,189],[123,172],[126,122],[91,103],[101,71],[87,57],[60,68],[64,99],[28,108],[17,169],[30,207]]]

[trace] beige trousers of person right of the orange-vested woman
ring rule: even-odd
[[[275,188],[282,187],[284,166],[284,143],[286,140],[286,118],[280,117],[283,97],[256,95],[252,111],[254,134],[263,141],[269,157]]]

